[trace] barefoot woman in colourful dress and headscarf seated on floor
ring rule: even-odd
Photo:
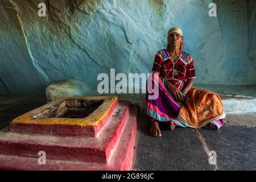
[[[159,122],[176,126],[218,130],[224,123],[225,112],[220,97],[208,90],[193,87],[196,78],[193,59],[182,51],[183,32],[174,27],[168,31],[166,49],[158,51],[152,68],[152,88],[159,97],[150,99],[146,93],[147,114],[151,117],[150,134],[161,137]],[[147,81],[147,84],[148,84]]]

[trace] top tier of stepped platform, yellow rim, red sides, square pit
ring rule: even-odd
[[[109,96],[60,98],[15,118],[9,130],[18,133],[96,137],[117,104],[118,97]],[[96,108],[85,108],[88,105]],[[88,113],[88,110],[91,112]],[[79,118],[72,113],[78,114]],[[76,118],[70,118],[70,115]]]

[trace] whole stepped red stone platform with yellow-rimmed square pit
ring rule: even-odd
[[[50,102],[0,131],[0,169],[129,170],[137,114],[137,106],[117,97]],[[46,165],[38,164],[39,151],[46,152]]]

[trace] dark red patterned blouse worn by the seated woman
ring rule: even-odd
[[[196,78],[192,56],[183,52],[179,59],[173,63],[167,49],[162,49],[156,53],[152,72],[166,78],[179,90],[183,88],[188,79]]]

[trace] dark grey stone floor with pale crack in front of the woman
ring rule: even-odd
[[[256,127],[170,131],[162,123],[162,137],[154,138],[147,116],[141,113],[138,121],[134,170],[256,170]],[[216,152],[216,165],[209,164],[209,151]]]

